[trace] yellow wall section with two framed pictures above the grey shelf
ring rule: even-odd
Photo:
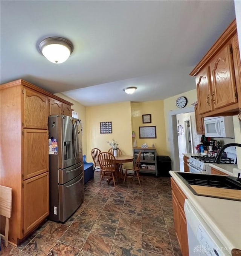
[[[142,123],[142,115],[151,114],[151,123]],[[152,147],[154,144],[158,155],[168,154],[166,150],[166,132],[163,111],[163,100],[154,100],[147,102],[131,103],[131,123],[132,130],[136,134],[137,147],[142,144],[148,144]],[[156,139],[140,139],[139,126],[156,126]]]

